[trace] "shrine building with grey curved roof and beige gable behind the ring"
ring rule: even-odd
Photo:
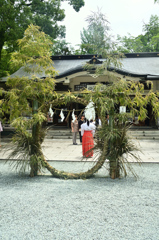
[[[108,81],[107,75],[101,75],[94,77],[93,71],[88,73],[84,66],[86,63],[101,65],[105,59],[97,57],[97,55],[66,55],[66,56],[52,56],[53,66],[58,72],[56,75],[55,91],[62,93],[66,91],[76,92],[82,89],[92,90],[96,83],[106,84]],[[159,91],[159,52],[154,53],[127,53],[125,57],[120,59],[122,66],[115,68],[113,65],[108,69],[111,71],[117,79],[135,80],[144,84],[144,92],[148,92],[152,88],[152,85],[146,84],[147,80],[153,81],[153,91]],[[18,71],[11,75],[15,76],[30,76],[29,73],[24,72],[24,68],[21,67]],[[42,71],[39,73],[40,78],[45,78],[45,74]],[[3,86],[6,81],[6,77],[2,78],[0,85]],[[77,103],[71,103],[69,106],[63,106],[64,109],[82,109],[84,106]],[[142,124],[146,126],[155,126],[156,119],[152,114],[151,106],[147,106],[148,119]],[[78,113],[77,113],[78,114]],[[59,126],[69,126],[68,122],[60,122],[59,112],[55,116],[53,124]]]

